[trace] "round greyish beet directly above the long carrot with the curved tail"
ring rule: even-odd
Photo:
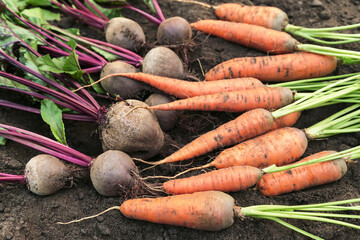
[[[151,49],[144,57],[142,71],[152,75],[183,79],[184,66],[174,51],[166,47]]]

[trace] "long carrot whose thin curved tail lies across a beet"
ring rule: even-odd
[[[167,94],[170,94],[178,98],[188,98],[199,95],[208,95],[208,94],[214,94],[220,92],[240,91],[240,90],[264,87],[261,81],[255,78],[234,78],[229,80],[219,80],[210,83],[207,81],[190,82],[190,81],[184,81],[174,78],[151,75],[147,73],[111,74],[109,76],[100,79],[99,81],[114,76],[123,76],[144,82],[152,87],[155,87]]]

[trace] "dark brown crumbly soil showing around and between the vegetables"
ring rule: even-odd
[[[140,2],[140,1],[138,1]],[[203,1],[219,4],[227,1]],[[245,2],[250,4],[249,1]],[[186,3],[159,0],[165,17],[181,16],[189,22],[200,19],[215,19],[211,9]],[[360,22],[360,2],[357,0],[253,0],[254,5],[271,5],[284,10],[290,23],[306,27],[337,26]],[[139,7],[144,7],[140,5]],[[147,42],[151,44],[156,39],[156,26],[147,23],[142,17],[124,10],[124,15],[139,22],[146,32]],[[79,24],[70,17],[64,17],[60,26],[80,27],[84,35],[99,38],[101,31]],[[244,48],[216,37],[196,34],[188,57],[189,74],[200,79],[202,71],[207,71],[216,64],[241,56],[259,56],[263,53]],[[300,39],[299,39],[300,40]],[[306,41],[303,41],[306,42]],[[359,50],[360,44],[348,44],[347,49]],[[145,50],[144,52],[146,52]],[[185,61],[185,59],[183,58]],[[356,66],[339,66],[334,74],[356,72]],[[25,100],[6,91],[0,91],[2,97],[17,102]],[[323,107],[302,113],[296,127],[305,128],[313,123],[342,109],[343,105]],[[177,147],[190,142],[196,136],[213,129],[225,121],[233,119],[238,114],[230,113],[179,113],[178,122],[173,130],[168,132],[168,144],[164,151],[153,160],[158,160],[176,150]],[[37,115],[19,112],[8,108],[0,108],[0,122],[18,126],[50,137],[46,124]],[[93,124],[66,121],[66,131],[69,145],[90,156],[101,153],[96,127]],[[305,156],[321,150],[344,150],[360,144],[360,134],[341,134],[338,136],[312,141],[309,143]],[[195,161],[204,163],[218,152],[209,154]],[[37,151],[14,142],[8,142],[0,147],[0,171],[22,174],[26,162],[38,154]],[[179,166],[163,166],[146,174],[173,174],[187,167],[191,162]],[[139,165],[139,168],[144,167]],[[360,166],[349,164],[349,170],[339,181],[314,187],[312,189],[285,194],[278,197],[264,197],[255,189],[230,193],[236,204],[251,206],[257,204],[308,204],[335,201],[360,197]],[[195,174],[195,173],[193,173]],[[86,220],[71,225],[57,225],[58,221],[68,221],[96,214],[108,207],[120,205],[122,197],[100,196],[91,183],[86,180],[74,181],[68,189],[47,197],[40,197],[27,191],[22,184],[0,184],[0,238],[1,239],[305,239],[304,236],[278,225],[270,220],[246,218],[237,219],[234,225],[218,232],[205,232],[182,227],[167,226],[129,220],[118,211],[106,213],[96,219]],[[349,220],[360,224],[359,220]],[[289,220],[290,223],[325,239],[360,239],[358,230],[334,226],[325,223]]]

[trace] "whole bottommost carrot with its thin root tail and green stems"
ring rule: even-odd
[[[244,219],[245,217],[255,217],[273,220],[307,237],[319,239],[319,237],[299,229],[280,218],[323,221],[360,229],[360,226],[358,225],[331,219],[331,217],[359,218],[358,215],[322,212],[328,211],[329,208],[334,212],[346,210],[358,211],[359,209],[357,207],[340,205],[356,203],[359,201],[360,199],[349,199],[311,205],[259,205],[238,207],[234,205],[234,199],[230,195],[218,191],[207,191],[161,198],[130,199],[123,202],[121,206],[108,208],[94,216],[66,223],[58,222],[58,224],[80,222],[97,217],[110,210],[119,210],[125,217],[131,219],[182,226],[197,230],[219,231],[230,227],[234,223],[234,217],[239,217],[241,219]]]

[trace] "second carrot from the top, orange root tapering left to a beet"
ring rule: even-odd
[[[294,52],[298,44],[288,33],[246,23],[201,20],[191,26],[201,32],[272,54]]]

